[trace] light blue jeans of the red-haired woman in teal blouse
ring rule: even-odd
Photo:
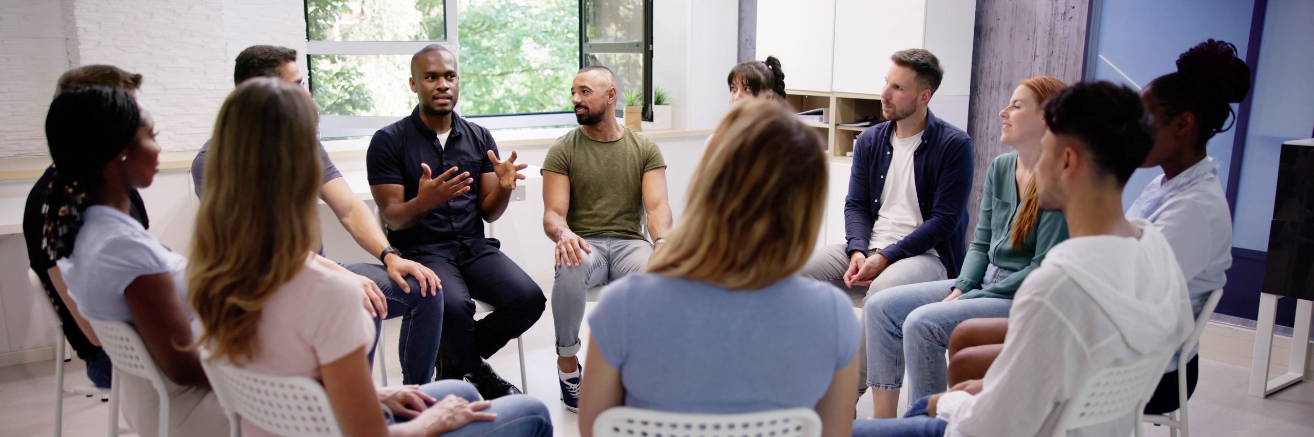
[[[982,287],[1013,274],[991,264]],[[954,280],[890,287],[867,298],[867,386],[879,390],[903,387],[908,365],[908,399],[945,391],[949,365],[945,349],[954,327],[967,319],[1007,318],[1012,299],[975,298],[941,302],[953,291]]]

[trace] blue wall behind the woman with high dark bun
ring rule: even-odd
[[[1135,84],[1144,87],[1155,77],[1177,71],[1177,55],[1209,38],[1236,45],[1238,55],[1244,59],[1254,10],[1254,0],[1102,0],[1093,49]],[[1135,89],[1104,60],[1089,59],[1095,64],[1087,66],[1088,79],[1109,80]],[[1209,140],[1209,155],[1222,164],[1218,176],[1225,188],[1233,142],[1233,131]],[[1159,175],[1163,175],[1159,168],[1138,169],[1122,193],[1123,209],[1130,207],[1146,184]],[[1264,226],[1267,230],[1268,224]]]

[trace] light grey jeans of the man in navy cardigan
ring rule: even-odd
[[[808,260],[807,266],[803,268],[803,276],[829,282],[841,290],[844,286],[844,272],[849,270],[849,251],[848,244],[832,244],[812,253],[812,259]],[[871,253],[875,253],[872,251]],[[880,293],[888,287],[896,287],[900,285],[921,283],[932,281],[947,280],[947,272],[945,272],[945,265],[940,262],[940,257],[922,253],[918,256],[907,257],[896,261],[886,268],[884,272],[876,276],[871,281],[871,285],[863,290],[862,286],[853,286],[855,291],[865,291],[865,299],[871,298],[872,294]],[[851,294],[850,290],[845,290]],[[866,322],[866,315],[859,320]],[[862,329],[863,339],[858,343],[858,392],[865,392],[867,390],[867,339],[866,327]]]

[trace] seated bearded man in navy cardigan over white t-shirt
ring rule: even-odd
[[[803,270],[837,286],[867,286],[867,295],[958,277],[972,188],[972,139],[926,109],[945,76],[940,60],[921,49],[890,59],[880,93],[888,121],[858,135],[853,151],[844,205],[848,244],[817,251]]]

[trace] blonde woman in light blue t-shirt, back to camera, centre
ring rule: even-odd
[[[579,430],[631,406],[740,413],[815,408],[853,427],[858,320],[838,289],[795,276],[817,241],[827,159],[773,100],[737,104],[648,272],[614,282],[589,316]]]

